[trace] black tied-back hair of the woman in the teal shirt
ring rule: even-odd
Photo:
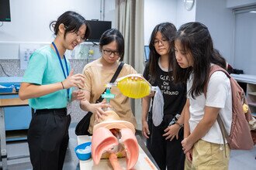
[[[65,27],[64,39],[67,35],[67,32],[78,32],[83,24],[86,26],[84,40],[88,38],[91,32],[91,29],[88,26],[88,22],[77,12],[64,12],[61,16],[59,16],[57,21],[50,22],[50,29],[53,27],[55,36],[57,36],[57,33],[59,32],[59,26],[61,24],[64,24]]]

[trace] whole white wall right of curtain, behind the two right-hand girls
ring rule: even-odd
[[[144,1],[144,44],[147,45],[150,33],[160,22],[169,21],[177,29],[186,22],[202,22],[209,28],[216,49],[233,61],[234,14],[223,0],[196,0],[192,10],[187,11],[182,0]]]

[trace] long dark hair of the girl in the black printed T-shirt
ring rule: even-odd
[[[172,68],[172,60],[174,59],[175,53],[174,53],[174,39],[176,35],[176,27],[170,22],[163,22],[158,24],[154,27],[153,32],[150,36],[150,53],[149,53],[149,62],[147,63],[149,65],[149,74],[150,74],[150,83],[154,83],[154,80],[156,79],[156,70],[157,70],[157,64],[158,59],[160,58],[160,55],[157,53],[156,49],[154,48],[154,39],[156,37],[157,32],[161,32],[161,35],[164,37],[164,39],[168,40],[169,46],[170,46],[170,52],[169,52],[169,66],[168,70]]]

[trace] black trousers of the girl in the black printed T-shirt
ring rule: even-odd
[[[183,128],[178,133],[178,140],[176,137],[170,141],[163,137],[164,129],[168,127],[169,122],[174,116],[164,115],[163,121],[157,127],[152,121],[152,114],[148,115],[148,127],[150,130],[150,138],[147,139],[147,148],[153,156],[155,162],[161,170],[183,170],[185,162],[185,154],[182,151]]]

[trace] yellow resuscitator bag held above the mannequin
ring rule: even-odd
[[[150,94],[151,90],[154,90],[154,87],[140,74],[130,74],[120,77],[115,83],[108,83],[108,85],[118,87],[124,96],[135,99],[146,97]]]

